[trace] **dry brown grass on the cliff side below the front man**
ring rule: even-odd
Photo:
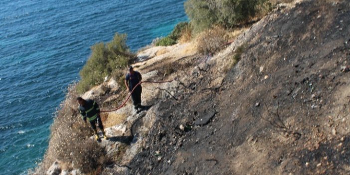
[[[56,112],[48,149],[34,175],[46,174],[55,160],[64,164],[62,168],[79,169],[82,173],[92,172],[110,161],[104,156],[104,148],[89,139],[93,133],[79,116],[76,97],[74,84],[68,88],[66,98]]]

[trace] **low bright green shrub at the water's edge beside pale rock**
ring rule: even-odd
[[[161,38],[156,42],[156,46],[169,46],[177,43],[177,40],[181,37],[182,32],[190,27],[188,22],[179,22],[175,25],[173,31],[166,37]]]

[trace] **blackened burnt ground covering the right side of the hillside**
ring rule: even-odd
[[[350,174],[350,3],[269,15],[220,86],[209,87],[215,62],[187,72],[130,174]]]

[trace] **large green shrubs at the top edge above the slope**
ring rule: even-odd
[[[199,33],[214,24],[234,27],[257,15],[268,0],[187,0],[184,8]]]

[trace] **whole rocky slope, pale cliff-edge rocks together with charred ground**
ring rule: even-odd
[[[143,51],[144,80],[174,81],[143,84],[140,113],[128,103],[104,115],[114,162],[100,174],[349,174],[349,24],[348,0],[303,0],[212,57],[192,43]],[[85,97],[112,108],[111,89]]]

